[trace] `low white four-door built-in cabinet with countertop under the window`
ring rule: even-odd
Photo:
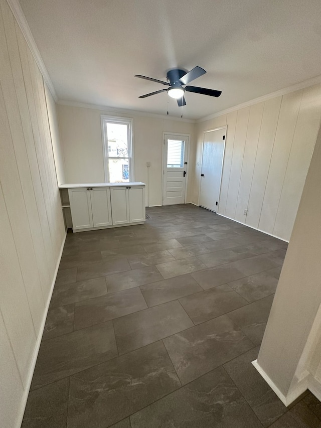
[[[74,232],[141,224],[145,221],[144,183],[62,185],[68,189]],[[63,204],[64,205],[64,204]]]

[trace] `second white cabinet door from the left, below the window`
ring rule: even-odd
[[[93,227],[110,226],[111,208],[109,187],[94,187],[90,190]]]

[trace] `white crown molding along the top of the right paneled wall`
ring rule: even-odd
[[[241,108],[245,107],[250,107],[251,105],[258,104],[259,102],[267,101],[271,98],[276,98],[278,96],[289,94],[290,92],[298,91],[299,89],[304,89],[309,86],[317,85],[318,83],[321,83],[321,76],[312,77],[311,79],[304,80],[303,82],[296,83],[295,85],[288,86],[287,88],[279,89],[278,91],[271,92],[261,97],[252,99],[250,101],[243,102],[242,104],[227,108],[226,110],[218,111],[217,113],[202,117],[201,119],[196,120],[196,122],[205,122],[206,120],[214,119],[215,117],[222,116],[223,114],[232,113],[232,111],[240,110]]]

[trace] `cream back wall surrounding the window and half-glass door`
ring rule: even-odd
[[[190,145],[193,149],[194,123],[143,116],[137,112],[124,114],[116,110],[98,110],[84,107],[72,107],[58,104],[58,121],[61,144],[65,160],[66,183],[103,183],[104,165],[100,115],[125,116],[133,118],[133,152],[135,181],[147,184],[146,162],[149,168],[149,206],[162,205],[162,157],[163,132],[191,134]],[[194,154],[194,149],[192,150]],[[194,163],[193,155],[190,165]],[[192,189],[188,174],[188,198]],[[189,199],[188,199],[189,200]]]

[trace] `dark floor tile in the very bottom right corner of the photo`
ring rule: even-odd
[[[270,428],[320,428],[321,420],[309,410],[304,402],[295,404],[281,416]]]

